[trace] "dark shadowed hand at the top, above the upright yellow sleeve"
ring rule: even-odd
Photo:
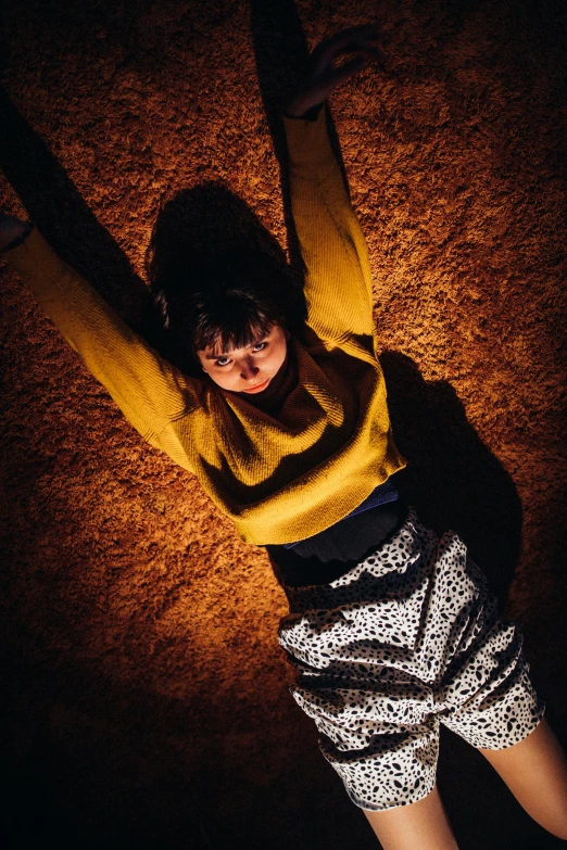
[[[379,40],[378,27],[370,24],[343,29],[317,45],[311,54],[307,74],[291,98],[286,115],[302,117],[370,62],[383,62],[385,54],[377,46]],[[348,56],[346,61],[337,65],[343,56]]]

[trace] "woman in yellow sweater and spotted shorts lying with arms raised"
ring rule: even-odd
[[[295,699],[382,846],[456,847],[436,786],[440,722],[567,838],[565,757],[519,634],[462,541],[426,531],[396,484],[366,245],[320,109],[380,59],[374,27],[345,30],[315,50],[288,104],[303,322],[286,280],[247,252],[153,282],[200,376],[153,351],[30,226],[3,217],[0,249],[142,436],[266,546],[290,599],[280,643]]]

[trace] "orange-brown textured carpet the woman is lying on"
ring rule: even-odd
[[[286,246],[280,92],[306,43],[378,21],[388,67],[332,113],[407,486],[507,595],[565,741],[564,3],[3,7],[0,166],[133,325],[166,201],[214,241],[241,199]],[[5,267],[0,304],[3,846],[374,847],[287,693],[263,551],[123,421]],[[442,745],[464,850],[555,847],[478,753]]]

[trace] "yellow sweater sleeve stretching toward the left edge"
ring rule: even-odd
[[[3,254],[64,339],[151,443],[197,405],[190,379],[162,359],[34,229]]]

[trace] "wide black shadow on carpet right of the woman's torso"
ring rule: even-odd
[[[520,550],[521,503],[512,478],[450,383],[426,381],[398,352],[385,352],[380,363],[395,444],[407,460],[400,474],[410,504],[438,534],[452,529],[463,537],[503,606]]]

